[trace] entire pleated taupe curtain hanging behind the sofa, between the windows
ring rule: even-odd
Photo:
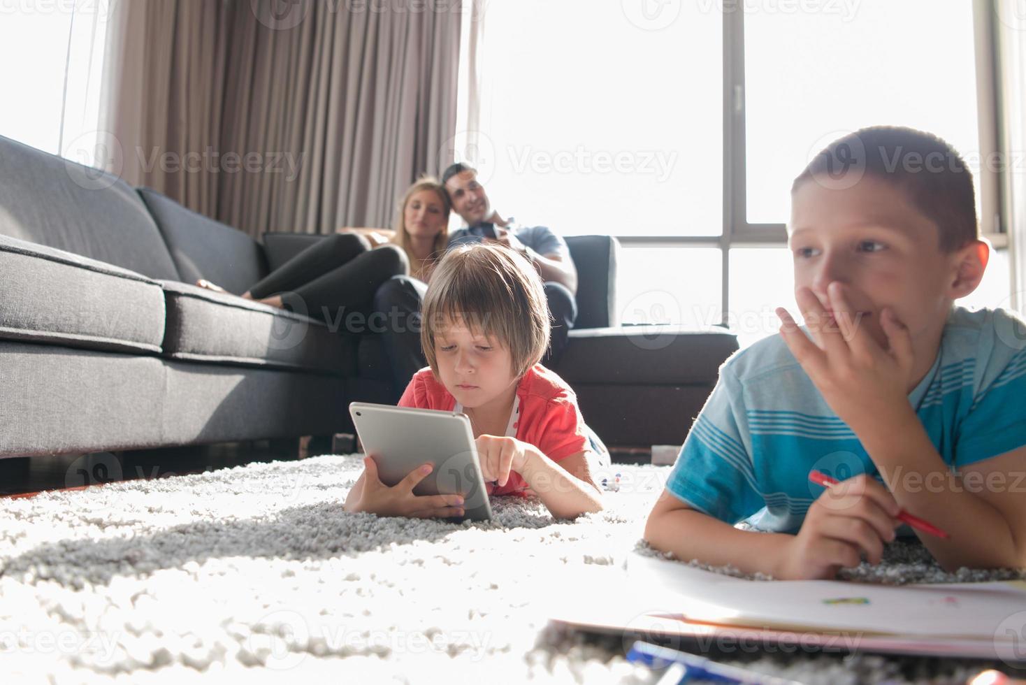
[[[462,12],[120,0],[105,128],[121,175],[254,237],[389,226],[405,188],[447,161]]]

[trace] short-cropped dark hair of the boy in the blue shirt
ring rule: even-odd
[[[973,172],[948,143],[903,126],[872,126],[828,145],[791,186],[814,180],[851,188],[863,174],[894,185],[940,229],[940,247],[953,252],[979,238]]]

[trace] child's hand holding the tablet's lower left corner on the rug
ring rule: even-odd
[[[363,474],[346,497],[347,512],[368,512],[379,516],[408,516],[419,519],[463,516],[463,497],[459,494],[417,495],[413,488],[431,473],[425,464],[389,487],[378,477],[378,465],[363,457]]]

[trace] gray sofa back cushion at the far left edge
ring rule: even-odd
[[[117,176],[0,136],[0,235],[179,279],[135,190]]]

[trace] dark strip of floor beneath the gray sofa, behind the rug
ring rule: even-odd
[[[299,459],[356,451],[351,436],[334,440],[255,441],[168,449],[0,458],[0,496],[79,488],[122,480],[164,478],[230,469],[251,461]],[[610,448],[617,464],[647,464],[644,448]]]

